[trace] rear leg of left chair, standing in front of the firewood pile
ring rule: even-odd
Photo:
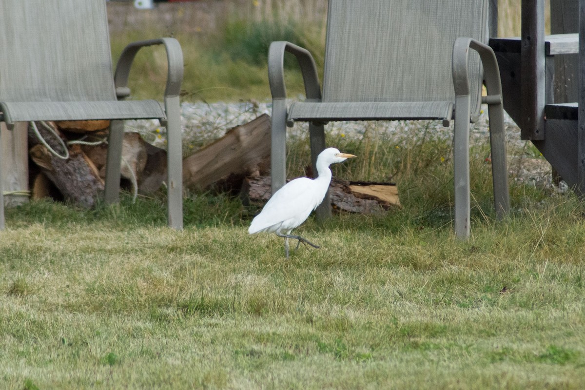
[[[120,200],[120,169],[122,165],[122,141],[124,121],[112,120],[108,134],[108,156],[106,157],[106,183],[104,198],[106,203]]]

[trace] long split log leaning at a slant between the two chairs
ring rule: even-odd
[[[266,172],[269,158],[270,116],[263,114],[185,158],[183,184],[205,189],[226,178],[241,183],[246,175]]]

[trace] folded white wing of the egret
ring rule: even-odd
[[[292,227],[300,225],[323,199],[323,196],[321,199],[316,199],[319,194],[315,192],[315,184],[314,180],[306,177],[285,184],[276,191],[260,214],[252,220],[248,231],[251,234],[263,230],[276,231],[278,227],[275,229],[270,229],[270,227],[280,226],[285,221],[294,225]]]

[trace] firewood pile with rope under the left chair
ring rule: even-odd
[[[51,196],[90,208],[104,190],[108,120],[29,123],[33,198]],[[166,151],[125,133],[122,187],[149,193],[166,178]]]

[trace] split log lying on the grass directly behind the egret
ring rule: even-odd
[[[242,185],[242,202],[264,203],[270,198],[270,177],[247,177]],[[378,214],[400,208],[395,184],[380,182],[345,181],[333,178],[329,186],[334,210],[360,214]]]

